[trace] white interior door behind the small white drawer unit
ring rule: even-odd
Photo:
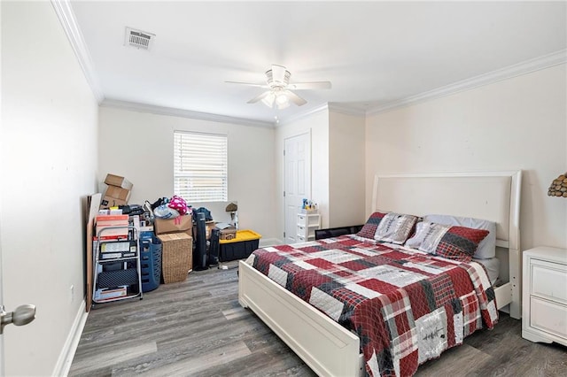
[[[283,145],[283,205],[285,243],[297,242],[298,208],[311,198],[311,135],[285,139]]]

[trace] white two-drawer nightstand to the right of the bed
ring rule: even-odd
[[[567,250],[524,251],[522,337],[567,346]]]

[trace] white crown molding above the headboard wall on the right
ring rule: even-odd
[[[472,88],[478,88],[488,84],[493,84],[498,81],[511,79],[513,77],[526,73],[540,71],[554,65],[561,65],[565,63],[567,63],[567,50],[558,50],[548,55],[525,60],[524,62],[515,65],[509,65],[507,67],[497,69],[489,73],[479,74],[478,76],[471,77],[470,79],[457,81],[444,87],[429,90],[416,96],[408,96],[406,98],[400,99],[399,101],[382,104],[369,109],[366,114],[376,115],[381,112],[388,112],[400,107],[408,106],[411,104],[419,104],[425,101],[430,101],[431,99],[440,98],[442,96],[449,96]]]

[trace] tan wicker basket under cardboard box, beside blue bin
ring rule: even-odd
[[[161,246],[161,273],[164,283],[185,281],[193,267],[193,238],[186,233],[158,235]]]

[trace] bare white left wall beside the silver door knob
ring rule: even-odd
[[[4,328],[5,374],[50,375],[84,312],[82,197],[96,189],[97,102],[49,2],[0,6],[3,304],[37,305],[34,322]]]

